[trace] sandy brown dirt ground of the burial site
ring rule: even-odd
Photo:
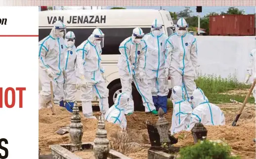
[[[226,118],[226,126],[208,126],[208,139],[220,139],[227,142],[233,150],[234,154],[240,155],[242,159],[255,159],[256,147],[253,139],[256,137],[255,127],[255,105],[247,104],[243,113],[237,123],[237,127],[231,127],[231,123],[234,120],[236,113],[239,111],[241,105],[226,103],[217,104],[224,112]],[[64,126],[70,124],[71,113],[59,106],[54,107],[56,115],[51,115],[51,109],[42,109],[39,111],[39,147],[41,154],[50,154],[49,145],[69,143],[69,134],[58,135],[55,132]],[[99,116],[99,112],[95,112],[95,116]],[[165,115],[166,119],[171,122],[172,109],[168,110]],[[81,113],[82,117],[82,113]],[[83,118],[83,117],[82,117]],[[137,143],[130,148],[123,148],[120,151],[120,145],[118,146],[121,153],[132,159],[147,159],[147,148],[141,146],[149,146],[149,138],[146,129],[146,120],[151,123],[156,123],[157,116],[151,114],[145,114],[144,112],[135,112],[131,116],[127,116],[127,142]],[[95,139],[95,132],[97,128],[97,120],[94,119],[82,119],[84,126],[83,142],[92,142]],[[117,137],[120,128],[117,125],[106,122],[106,130],[108,133],[108,139],[111,141],[113,148],[117,148],[118,144],[122,143],[119,137]],[[193,144],[193,138],[191,132],[182,131],[175,134],[175,137],[179,137],[177,146],[186,146]],[[125,151],[125,152],[124,152]]]

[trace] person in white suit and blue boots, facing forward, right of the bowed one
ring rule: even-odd
[[[151,32],[143,37],[147,44],[145,71],[156,109],[167,113],[168,79],[165,78],[165,52],[168,36],[163,33],[162,23],[155,19]]]

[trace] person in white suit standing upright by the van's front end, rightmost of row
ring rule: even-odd
[[[182,85],[185,88],[186,98],[191,102],[196,89],[194,79],[196,75],[199,76],[200,64],[196,38],[187,33],[187,27],[185,19],[180,18],[175,26],[176,32],[167,39],[165,75],[166,78],[170,75],[172,87]]]

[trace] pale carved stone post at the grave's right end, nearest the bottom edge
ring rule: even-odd
[[[109,140],[107,139],[107,130],[105,130],[104,115],[102,114],[99,117],[96,138],[94,139],[94,157],[96,159],[107,159],[109,150]]]

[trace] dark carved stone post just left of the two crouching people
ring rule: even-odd
[[[165,112],[162,108],[159,108],[158,110],[158,121],[157,121],[157,130],[160,136],[160,142],[163,143],[170,143],[169,135],[168,135],[168,129],[170,126],[170,123],[165,119],[164,117]]]

